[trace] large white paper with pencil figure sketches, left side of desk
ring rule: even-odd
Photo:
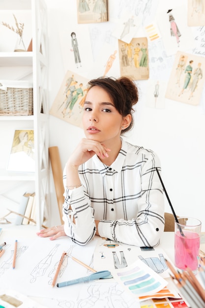
[[[51,283],[59,265],[62,252],[65,251],[82,262],[90,265],[97,241],[87,246],[76,246],[68,237],[55,241],[39,238],[29,243],[28,239],[18,239],[16,266],[12,269],[15,239],[7,239],[6,251],[0,258],[0,287],[38,297],[74,298],[76,299],[81,285],[67,288],[52,288]],[[85,253],[86,251],[86,253]],[[65,257],[61,265],[57,282],[75,279],[88,275],[88,269]]]

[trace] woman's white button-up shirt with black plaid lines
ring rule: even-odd
[[[95,235],[95,219],[100,220],[101,237],[135,246],[158,245],[165,220],[163,188],[155,167],[161,171],[153,151],[122,139],[111,166],[97,155],[79,166],[81,187],[66,188],[64,169],[65,233],[76,244],[86,245]]]

